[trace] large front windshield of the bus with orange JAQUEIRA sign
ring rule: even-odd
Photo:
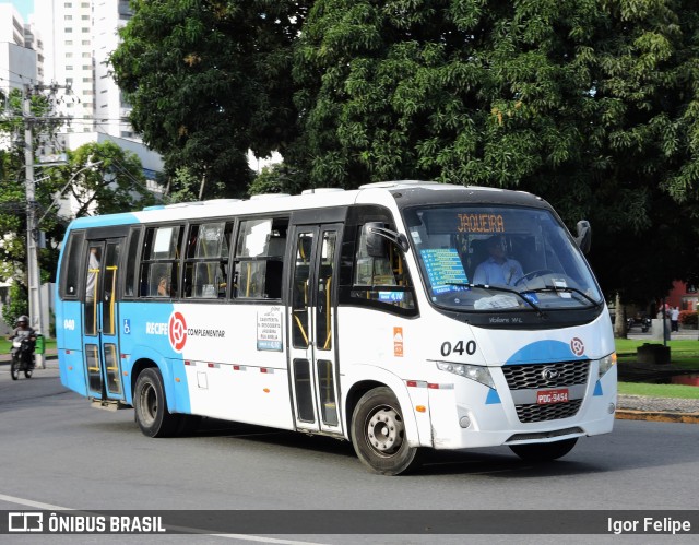
[[[579,248],[545,209],[405,211],[433,303],[461,311],[590,308],[603,296]]]

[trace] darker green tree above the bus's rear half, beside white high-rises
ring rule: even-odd
[[[266,156],[294,138],[291,44],[306,3],[132,2],[110,58],[115,79],[134,129],[170,175],[187,169],[204,180],[202,198],[242,196],[248,149]]]

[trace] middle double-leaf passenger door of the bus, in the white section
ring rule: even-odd
[[[298,429],[341,433],[337,405],[336,261],[341,225],[296,226],[288,309]]]

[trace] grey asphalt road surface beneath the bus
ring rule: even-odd
[[[254,535],[158,536],[150,543],[183,543],[185,538],[188,544],[222,540],[301,545],[506,540],[558,544],[561,538],[588,543],[592,536],[269,534],[275,513],[288,509],[305,516],[320,510],[319,518],[325,509],[485,510],[483,517],[493,519],[496,529],[513,517],[501,514],[502,510],[566,510],[584,516],[585,510],[686,509],[696,506],[696,431],[686,424],[619,420],[613,434],[582,439],[569,455],[550,465],[521,462],[506,448],[477,449],[434,452],[416,475],[377,477],[363,469],[350,443],[323,437],[212,420],[196,437],[149,439],[138,430],[132,411],[93,410],[84,399],[67,392],[55,366],[49,364],[34,378],[15,382],[4,366],[0,368],[0,509],[256,509],[269,513],[269,530]],[[540,528],[556,524],[555,519],[555,512],[546,514]],[[17,542],[14,537],[12,543]],[[604,543],[606,536],[600,537],[594,536],[595,542]],[[642,542],[640,537],[633,542]],[[673,544],[689,543],[685,538],[675,537]],[[61,541],[94,543],[95,536],[32,536],[33,544]],[[112,541],[135,543],[129,536]]]

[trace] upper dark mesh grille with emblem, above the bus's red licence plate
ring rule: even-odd
[[[558,376],[553,380],[544,377],[545,369],[554,369]],[[558,388],[573,384],[587,384],[589,360],[558,362],[555,364],[506,365],[502,372],[510,390],[532,390],[537,388]]]

